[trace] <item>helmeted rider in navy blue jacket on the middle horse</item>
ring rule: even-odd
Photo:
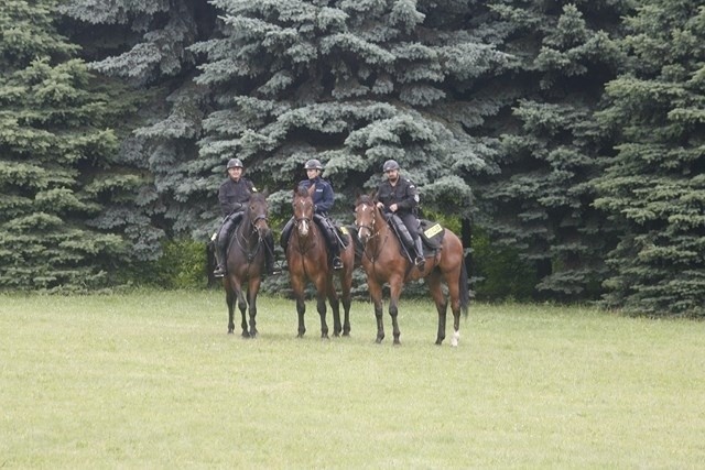
[[[335,201],[333,187],[330,183],[321,177],[323,165],[318,160],[312,159],[307,161],[304,168],[306,170],[308,179],[300,182],[299,186],[303,186],[311,194],[315,207],[313,219],[326,239],[328,250],[333,256],[333,269],[340,270],[343,269],[343,261],[340,260],[340,244],[338,243],[337,229],[328,217],[328,211],[333,208]],[[281,245],[284,250],[286,250],[286,245],[289,244],[289,238],[293,227],[294,218],[292,217],[282,230]]]

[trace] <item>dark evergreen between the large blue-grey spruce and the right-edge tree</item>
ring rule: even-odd
[[[514,58],[498,80],[512,117],[495,120],[499,172],[478,192],[494,239],[535,266],[544,296],[595,297],[609,230],[593,207],[592,179],[608,141],[593,119],[623,55],[611,39],[626,2],[514,1],[494,4],[503,50]]]

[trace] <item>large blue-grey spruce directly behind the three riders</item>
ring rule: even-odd
[[[316,157],[348,212],[355,190],[373,190],[382,163],[395,159],[424,205],[469,214],[468,181],[490,151],[467,123],[491,110],[455,99],[456,88],[506,57],[468,31],[468,2],[214,4],[225,12],[223,37],[192,47],[208,57],[196,81],[216,100],[185,184],[192,198],[213,199],[237,155],[261,186],[280,189],[270,199],[286,217],[303,163]]]

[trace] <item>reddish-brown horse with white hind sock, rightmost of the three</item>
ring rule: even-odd
[[[403,254],[402,244],[389,227],[382,211],[375,199],[368,195],[358,196],[355,201],[355,226],[358,237],[365,247],[362,269],[367,274],[367,285],[375,304],[377,318],[377,339],[384,339],[382,321],[382,286],[389,283],[389,315],[392,318],[394,345],[400,345],[400,330],[397,321],[399,297],[403,285],[409,281],[424,278],[438,311],[438,332],[436,345],[445,339],[445,320],[448,300],[443,293],[443,281],[448,286],[451,309],[453,310],[454,335],[452,345],[457,346],[460,338],[460,311],[467,317],[469,292],[467,288],[467,270],[464,263],[463,242],[449,230],[445,230],[441,250],[426,255],[423,271],[415,267]]]

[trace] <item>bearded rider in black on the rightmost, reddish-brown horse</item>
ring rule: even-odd
[[[416,219],[419,206],[416,187],[410,179],[399,176],[400,166],[394,160],[384,162],[382,171],[387,174],[387,178],[377,188],[377,207],[398,216],[404,223],[416,251],[414,264],[423,271],[425,260]]]

